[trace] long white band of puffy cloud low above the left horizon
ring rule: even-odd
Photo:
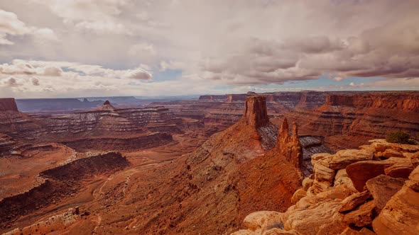
[[[114,93],[134,95],[141,91],[144,81],[153,79],[145,64],[134,69],[109,69],[94,64],[15,59],[0,65],[0,93],[33,97],[75,97],[81,93],[101,96]],[[13,74],[13,76],[11,76]]]

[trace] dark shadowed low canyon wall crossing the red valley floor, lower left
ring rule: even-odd
[[[129,166],[126,158],[119,153],[90,156],[58,166],[40,173],[43,182],[24,193],[0,200],[0,229],[11,226],[18,217],[47,207],[63,197],[69,197],[80,190],[82,180],[100,174],[107,176]]]

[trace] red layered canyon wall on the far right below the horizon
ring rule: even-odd
[[[416,137],[419,93],[330,93],[319,108],[295,110],[287,115],[305,123],[305,134],[377,138],[402,130]]]

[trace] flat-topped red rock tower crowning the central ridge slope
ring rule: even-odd
[[[269,123],[268,111],[266,110],[266,97],[249,96],[246,97],[244,115],[242,120],[246,125],[263,127]]]

